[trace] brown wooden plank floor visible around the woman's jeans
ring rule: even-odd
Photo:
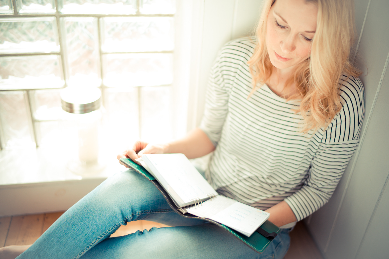
[[[63,212],[12,216],[0,218],[0,247],[6,245],[28,245],[37,240]],[[131,221],[121,226],[111,237],[123,236],[137,230],[149,230],[153,226],[165,227],[152,221]],[[305,225],[297,223],[291,231],[291,247],[284,259],[322,259]]]

